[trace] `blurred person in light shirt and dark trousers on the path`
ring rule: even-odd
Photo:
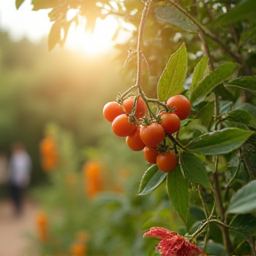
[[[21,142],[12,145],[12,154],[9,160],[9,185],[15,213],[22,213],[23,194],[30,182],[31,158]]]

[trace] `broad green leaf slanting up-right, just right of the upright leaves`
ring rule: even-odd
[[[215,68],[212,73],[204,77],[204,80],[191,93],[191,103],[198,104],[203,101],[217,85],[223,83],[229,76],[232,76],[238,67],[237,63],[226,62],[220,65],[220,67]]]

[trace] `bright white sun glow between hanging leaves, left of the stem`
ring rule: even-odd
[[[97,19],[93,33],[85,32],[82,25],[77,28],[72,26],[68,31],[66,46],[70,50],[90,55],[107,52],[114,45],[112,39],[118,27],[118,21],[111,17],[105,20]]]

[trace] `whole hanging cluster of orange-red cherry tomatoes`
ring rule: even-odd
[[[157,164],[162,172],[171,172],[178,164],[178,156],[171,148],[164,147],[164,138],[180,130],[180,120],[188,117],[191,105],[183,95],[172,96],[164,105],[166,108],[152,119],[147,116],[149,108],[141,96],[129,97],[121,103],[108,102],[103,116],[112,123],[116,136],[126,137],[129,148],[144,150],[149,164]]]

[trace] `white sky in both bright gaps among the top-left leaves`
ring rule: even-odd
[[[26,0],[17,11],[15,0],[0,0],[0,29],[7,31],[12,40],[19,41],[27,37],[31,42],[38,42],[42,37],[49,35],[52,22],[48,18],[50,10],[32,11],[31,0]],[[109,18],[109,19],[108,19]],[[122,43],[131,35],[121,31],[115,42],[113,36],[119,27],[118,21],[113,17],[97,20],[93,35],[84,34],[84,27],[76,28],[72,24],[68,31],[65,43],[69,50],[98,54],[113,48],[115,42]],[[123,24],[124,25],[124,24]],[[127,27],[127,29],[133,29]]]

